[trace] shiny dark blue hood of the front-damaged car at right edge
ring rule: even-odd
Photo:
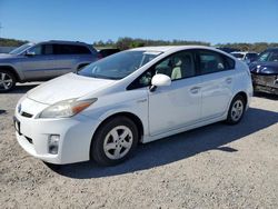
[[[278,62],[255,61],[249,64],[249,69],[257,74],[278,74]]]

